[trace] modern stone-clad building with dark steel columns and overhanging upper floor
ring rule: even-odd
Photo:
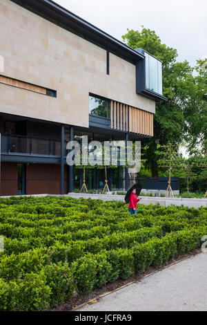
[[[150,53],[50,0],[1,0],[0,39],[2,196],[79,188],[83,170],[66,164],[68,140],[153,136],[164,97]],[[90,188],[103,186],[103,170],[86,174]],[[108,175],[110,187],[128,187],[124,167]]]

